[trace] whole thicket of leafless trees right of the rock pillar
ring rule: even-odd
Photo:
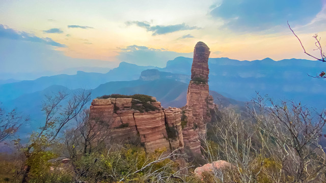
[[[214,169],[214,181],[324,182],[326,141],[322,130],[326,111],[309,110],[301,103],[275,103],[259,94],[248,114],[219,109],[219,118],[202,137],[208,163],[225,160]]]

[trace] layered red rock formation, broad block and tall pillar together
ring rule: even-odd
[[[161,148],[173,151],[186,147],[192,153],[200,154],[200,136],[206,133],[205,125],[211,119],[209,109],[215,105],[209,95],[209,54],[205,43],[196,44],[187,104],[182,110],[175,107],[164,109],[160,102],[149,96],[134,95],[133,98],[115,95],[107,96],[106,99],[94,99],[90,107],[90,119],[94,124],[108,125],[110,142],[139,140],[148,152]],[[157,70],[147,70],[140,79],[156,79],[160,77],[158,74]]]

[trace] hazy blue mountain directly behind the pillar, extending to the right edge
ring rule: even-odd
[[[161,71],[191,74],[192,58],[177,57]],[[229,98],[250,101],[268,94],[275,100],[294,100],[307,106],[325,108],[326,79],[312,78],[326,70],[326,64],[306,59],[270,58],[239,61],[230,58],[210,58],[209,88]]]

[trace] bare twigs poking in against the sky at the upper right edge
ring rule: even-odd
[[[322,51],[322,47],[321,47],[321,44],[320,44],[320,37],[318,38],[318,35],[315,34],[314,36],[312,36],[314,39],[315,39],[315,46],[316,46],[316,49],[314,49],[314,51],[318,50],[320,52],[320,57],[316,57],[316,56],[313,56],[312,54],[308,53],[304,47],[304,45],[302,44],[300,38],[298,36],[296,36],[296,34],[294,33],[294,31],[292,30],[289,22],[287,22],[291,32],[293,33],[293,35],[296,37],[296,39],[300,42],[300,45],[302,47],[302,49],[304,50],[304,53],[306,53],[308,56],[316,59],[316,60],[319,60],[321,62],[326,62],[326,55],[325,53]],[[326,74],[324,71],[321,71],[319,75],[316,74],[316,76],[311,76],[308,74],[308,76],[310,77],[314,77],[314,78],[326,78]]]

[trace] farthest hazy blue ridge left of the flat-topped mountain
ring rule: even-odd
[[[15,99],[23,94],[29,94],[43,90],[51,85],[62,85],[69,89],[95,88],[109,81],[135,80],[140,77],[142,71],[152,69],[153,66],[137,66],[125,62],[120,63],[118,68],[101,73],[87,73],[78,71],[75,75],[55,75],[40,77],[36,80],[25,80],[15,83],[0,85],[0,101]]]

